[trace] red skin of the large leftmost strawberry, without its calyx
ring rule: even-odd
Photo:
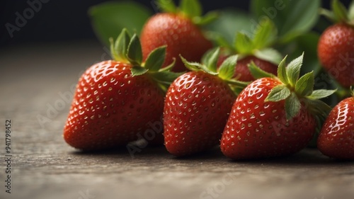
[[[105,61],[81,76],[64,126],[68,144],[83,150],[117,147],[161,121],[163,92],[149,76],[132,76],[130,67]]]

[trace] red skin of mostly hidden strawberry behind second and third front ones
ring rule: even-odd
[[[224,62],[225,59],[227,59],[228,56],[222,56],[219,57],[217,60],[217,66],[221,66],[222,62]],[[268,61],[265,61],[263,59],[259,59],[258,57],[254,56],[247,56],[244,57],[243,59],[239,59],[237,61],[237,64],[235,66],[235,75],[234,77],[239,80],[239,81],[254,81],[254,77],[252,76],[251,72],[249,71],[249,64],[251,62],[254,62],[257,67],[262,69],[265,72],[269,72],[271,74],[274,74],[275,76],[277,75],[278,72],[278,66],[275,64],[272,64]]]

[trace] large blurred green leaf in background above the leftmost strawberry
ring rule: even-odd
[[[117,38],[123,28],[139,34],[152,12],[135,1],[108,1],[89,8],[89,16],[98,39],[109,46],[109,38]]]

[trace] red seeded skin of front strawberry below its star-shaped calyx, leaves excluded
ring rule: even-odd
[[[221,149],[232,159],[256,159],[294,154],[306,147],[314,135],[315,119],[300,109],[292,120],[285,119],[285,101],[265,102],[280,81],[262,78],[242,91],[222,134]]]

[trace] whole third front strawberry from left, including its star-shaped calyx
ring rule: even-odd
[[[334,91],[313,91],[314,74],[299,78],[303,55],[285,67],[278,77],[262,72],[254,64],[249,69],[258,79],[236,98],[224,128],[221,149],[232,159],[257,159],[294,154],[312,139],[321,118],[330,108],[319,98]]]

